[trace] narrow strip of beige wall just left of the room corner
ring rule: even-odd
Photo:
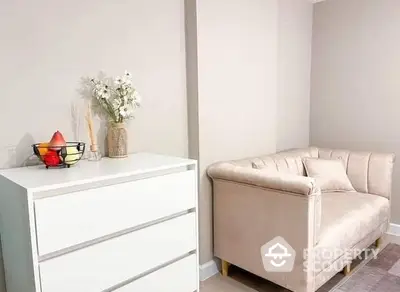
[[[307,147],[313,5],[279,0],[277,150]]]

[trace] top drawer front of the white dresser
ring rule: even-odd
[[[39,256],[195,207],[188,170],[35,201]]]

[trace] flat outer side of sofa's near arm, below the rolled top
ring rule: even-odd
[[[280,190],[268,180],[262,180],[263,187],[254,187],[243,176],[236,179],[227,176],[229,172],[217,172],[216,168],[210,172],[214,177],[214,255],[270,281],[286,285],[292,291],[306,291],[301,285],[312,279],[313,272],[309,266],[305,269],[307,258],[304,256],[305,251],[311,250],[318,240],[320,193],[297,195]],[[258,177],[256,170],[249,169],[249,172]],[[311,184],[300,185],[311,189]],[[285,186],[287,188],[288,185]],[[292,190],[298,191],[298,187]],[[296,254],[293,271],[285,278],[281,273],[267,273],[262,264],[263,246],[279,237]],[[289,247],[284,242],[280,243]]]

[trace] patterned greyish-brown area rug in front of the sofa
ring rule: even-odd
[[[399,292],[400,245],[389,244],[333,292]]]

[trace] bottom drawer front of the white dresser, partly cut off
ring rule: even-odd
[[[196,255],[184,258],[115,292],[193,292],[198,285]]]

